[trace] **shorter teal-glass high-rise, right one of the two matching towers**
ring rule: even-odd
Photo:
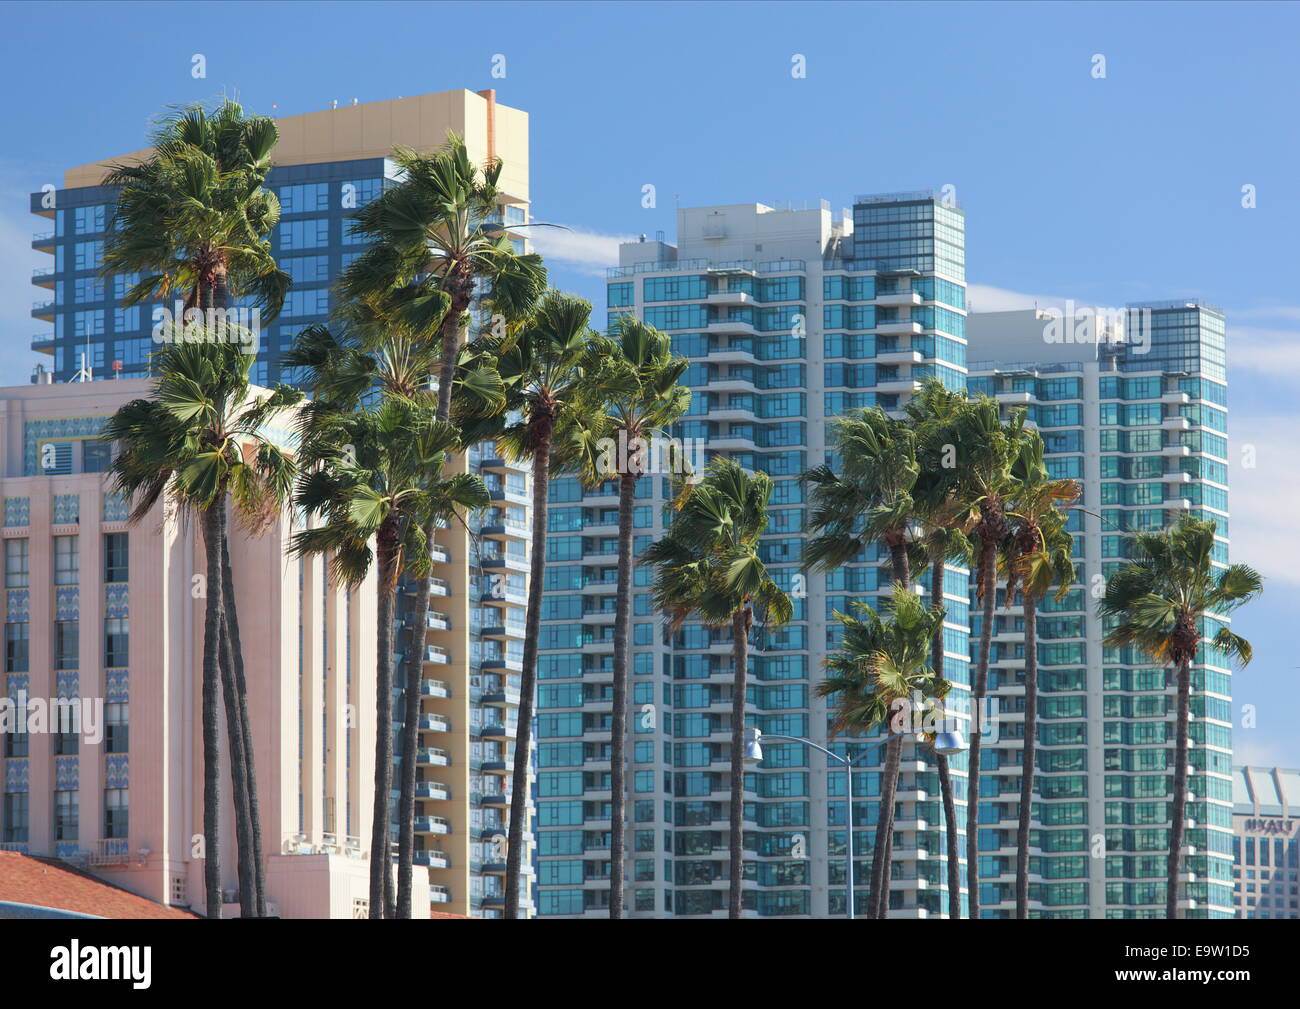
[[[1105,580],[1130,534],[1191,514],[1218,524],[1227,563],[1225,321],[1199,300],[1115,309],[975,312],[971,393],[1024,408],[1057,478],[1078,480],[1070,512],[1076,584],[1037,620],[1039,731],[1031,913],[1053,918],[1165,914],[1176,684],[1135,648],[1102,645]],[[978,361],[974,359],[979,359]],[[974,590],[971,593],[974,599]],[[1024,719],[1024,623],[998,590],[988,690],[997,740],[985,742],[980,897],[1014,917],[1015,828]],[[1213,637],[1223,618],[1206,614]],[[979,633],[980,615],[971,619]],[[1231,672],[1202,645],[1192,667],[1183,914],[1232,917]]]

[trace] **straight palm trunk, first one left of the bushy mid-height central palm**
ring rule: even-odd
[[[628,672],[632,664],[632,511],[637,473],[619,477],[619,588],[614,606],[614,718],[610,720],[610,917],[623,917],[623,869],[627,813],[625,770],[628,732]]]

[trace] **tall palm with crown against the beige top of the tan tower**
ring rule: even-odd
[[[508,234],[494,222],[504,194],[498,189],[502,163],[474,168],[464,140],[450,134],[433,153],[398,148],[394,160],[403,181],[367,204],[356,216],[370,248],[344,273],[341,289],[350,304],[364,306],[389,324],[425,337],[436,350],[438,420],[452,420],[456,390],[471,393],[474,411],[500,408],[494,371],[482,358],[465,354],[469,308],[476,285],[497,322],[516,322],[546,287],[541,257],[515,251]],[[486,402],[486,407],[484,403]],[[425,529],[428,549],[437,528]],[[420,650],[429,610],[433,571],[416,585],[411,612],[415,651]],[[419,662],[408,662],[403,694],[402,752],[419,741]],[[415,854],[415,766],[403,761],[398,781],[396,917],[411,917]]]

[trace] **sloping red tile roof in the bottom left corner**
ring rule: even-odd
[[[36,904],[101,918],[196,918],[155,904],[57,858],[0,852],[0,901]]]

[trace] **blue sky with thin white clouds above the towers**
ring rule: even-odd
[[[838,208],[952,185],[976,309],[1196,295],[1227,312],[1232,553],[1269,579],[1235,622],[1256,644],[1235,745],[1300,766],[1297,30],[1277,3],[6,4],[0,381],[27,381],[42,329],[27,194],[222,88],[294,114],[495,87],[532,118],[534,215],[575,229],[546,243],[552,280],[598,312],[619,238],[671,241],[677,198]]]

